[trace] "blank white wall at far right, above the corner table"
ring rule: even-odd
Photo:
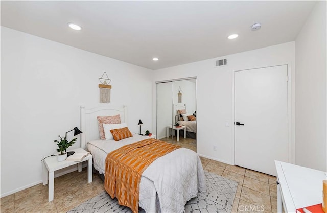
[[[295,40],[296,164],[327,171],[326,1],[319,1]]]

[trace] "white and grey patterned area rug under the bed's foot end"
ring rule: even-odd
[[[188,201],[185,213],[230,213],[237,190],[237,182],[219,175],[204,171],[207,192],[198,193],[198,196]],[[111,199],[107,192],[102,192],[67,211],[67,213],[132,213],[131,209],[118,204]],[[139,209],[139,212],[144,212]]]

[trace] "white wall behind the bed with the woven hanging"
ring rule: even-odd
[[[57,135],[79,127],[80,105],[99,104],[104,71],[111,104],[128,106],[130,130],[142,119],[152,131],[152,70],[5,27],[1,53],[1,197],[41,182]]]

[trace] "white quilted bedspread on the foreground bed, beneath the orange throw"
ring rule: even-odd
[[[94,167],[104,174],[109,152],[145,137],[134,135],[120,141],[94,140],[87,144],[94,158]],[[143,172],[139,185],[139,207],[146,212],[183,212],[188,200],[205,192],[205,177],[198,155],[180,148],[156,159]],[[159,206],[156,205],[159,203]],[[157,206],[157,207],[156,207]]]

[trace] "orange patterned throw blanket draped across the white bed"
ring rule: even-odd
[[[104,187],[120,205],[138,213],[139,182],[143,171],[157,158],[176,149],[178,145],[157,139],[145,139],[110,152],[105,162]]]

